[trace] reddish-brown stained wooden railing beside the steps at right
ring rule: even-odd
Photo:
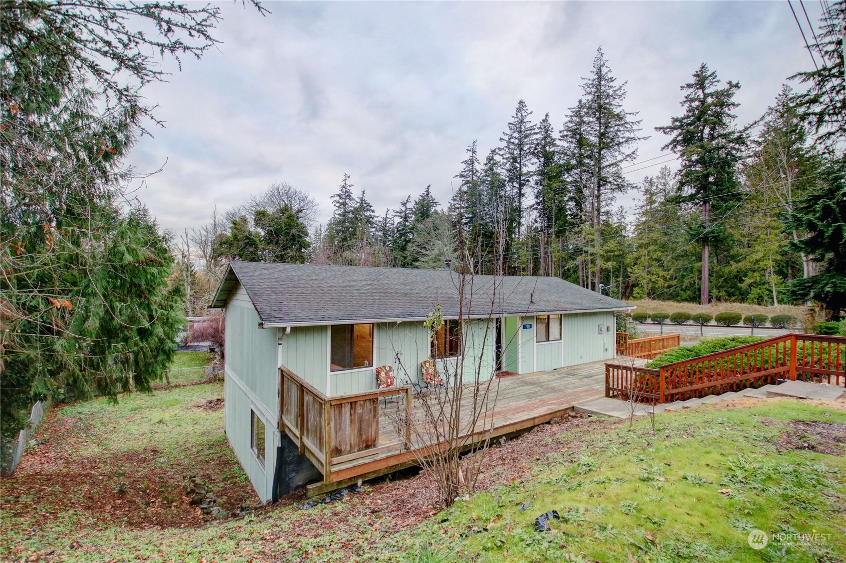
[[[608,363],[605,395],[673,402],[760,387],[779,379],[846,386],[846,337],[789,334],[658,369]]]

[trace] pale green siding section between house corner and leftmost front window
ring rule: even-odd
[[[329,369],[327,327],[293,326],[288,335],[284,332],[279,329],[283,366],[325,393]]]

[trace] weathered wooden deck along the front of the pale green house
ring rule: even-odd
[[[617,361],[634,361],[639,367],[645,363],[632,358]],[[473,393],[465,391],[460,446],[469,448],[531,429],[562,416],[580,402],[605,396],[605,362],[497,378],[475,426]],[[409,387],[327,397],[287,369],[282,372],[280,430],[299,444],[300,452],[323,473],[323,482],[312,485],[310,495],[409,467],[439,446],[434,434],[420,431],[427,417],[422,400],[412,398]],[[408,424],[400,424],[402,415],[414,421],[414,432]]]

